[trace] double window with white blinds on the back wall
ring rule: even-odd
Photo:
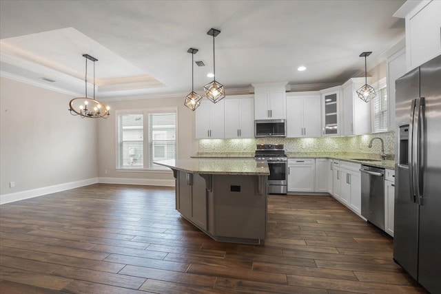
[[[153,162],[176,157],[176,110],[145,110],[117,116],[117,168],[166,169]]]

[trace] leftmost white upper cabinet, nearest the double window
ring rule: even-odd
[[[201,102],[196,109],[196,139],[224,138],[224,105],[225,100]]]

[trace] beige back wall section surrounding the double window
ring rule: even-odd
[[[116,98],[119,99],[119,98]],[[115,99],[115,100],[116,100]],[[161,107],[177,107],[177,153],[176,158],[189,158],[198,152],[198,140],[195,139],[195,113],[184,106],[185,94],[176,98],[143,98],[131,101],[106,102],[110,105],[111,115],[109,118],[98,122],[98,158],[100,181],[115,182],[120,179],[141,179],[149,185],[174,185],[172,171],[116,171],[116,115],[117,110],[141,110]],[[107,169],[107,174],[105,170]],[[164,181],[165,180],[165,181]],[[121,181],[120,181],[121,182]]]

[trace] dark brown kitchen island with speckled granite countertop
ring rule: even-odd
[[[163,160],[173,171],[176,210],[217,241],[262,244],[267,231],[267,163],[247,159]]]

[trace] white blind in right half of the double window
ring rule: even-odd
[[[149,114],[149,168],[166,169],[153,162],[176,157],[176,113]]]

